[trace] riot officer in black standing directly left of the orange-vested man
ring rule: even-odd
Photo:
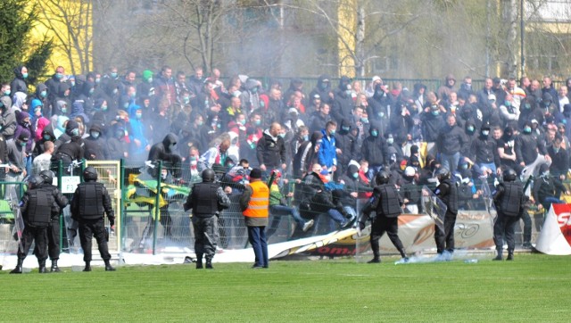
[[[222,187],[214,183],[214,178],[214,170],[203,170],[203,182],[194,184],[184,205],[185,211],[193,210],[196,269],[203,269],[203,256],[206,269],[212,269],[212,258],[219,238],[219,212],[230,206],[230,199]]]

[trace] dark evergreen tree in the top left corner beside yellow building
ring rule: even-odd
[[[28,68],[28,84],[36,84],[52,54],[51,39],[32,44],[29,32],[37,21],[36,5],[27,0],[0,1],[0,82],[9,83],[18,65]]]

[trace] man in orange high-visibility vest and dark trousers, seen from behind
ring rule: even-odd
[[[250,184],[240,196],[240,207],[244,214],[244,222],[248,227],[248,240],[252,244],[256,256],[252,269],[268,268],[268,226],[269,187],[261,181],[261,170],[250,172]]]

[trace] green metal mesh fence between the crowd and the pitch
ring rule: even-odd
[[[54,165],[57,174],[57,183],[62,192],[71,197],[74,184],[78,183],[79,170],[87,165],[95,166],[98,170],[99,180],[104,183],[112,195],[113,208],[116,213],[116,229],[110,238],[110,251],[112,253],[189,253],[194,250],[194,233],[190,213],[183,210],[186,197],[192,190],[194,182],[199,181],[196,171],[185,169],[174,170],[161,162],[140,165],[128,162],[103,161],[84,162],[80,165]],[[166,176],[158,176],[166,173]],[[230,197],[231,205],[228,210],[219,215],[219,248],[243,249],[247,247],[247,230],[244,226],[244,217],[239,207],[241,190],[236,183],[224,182],[224,170],[220,170],[217,178],[221,178],[223,187],[234,186]],[[198,178],[198,179],[197,179]],[[284,181],[283,179],[289,179]],[[287,183],[285,183],[287,182]],[[269,243],[280,243],[302,237],[326,234],[342,227],[339,219],[335,219],[327,211],[319,210],[319,205],[312,205],[313,211],[302,211],[302,204],[311,201],[311,195],[303,181],[294,178],[282,178],[283,192],[293,192],[293,198],[287,198],[286,203],[296,210],[301,210],[304,220],[313,219],[312,228],[303,231],[292,216],[271,214],[269,216]],[[483,182],[476,179],[476,187],[482,188]],[[8,189],[8,187],[12,187]],[[339,187],[338,187],[339,188]],[[15,253],[16,244],[13,243],[15,201],[18,201],[25,190],[22,183],[0,183],[3,192],[12,191],[9,198],[0,200],[2,224],[0,225],[0,252]],[[408,189],[419,189],[418,186],[401,187],[404,194]],[[344,188],[341,187],[343,191]],[[362,195],[365,192],[360,192]],[[335,204],[335,197],[327,192]],[[359,213],[366,200],[358,199],[350,209]],[[314,202],[311,202],[314,203]],[[418,213],[422,207],[418,203]],[[337,206],[339,206],[337,204]],[[339,210],[344,216],[351,216],[351,210],[340,205]],[[468,198],[459,201],[460,211],[486,211],[486,201],[480,195],[478,198]],[[344,209],[344,210],[342,210]],[[406,210],[415,213],[414,208]],[[349,212],[346,212],[349,211]],[[541,230],[543,212],[529,209],[533,220],[532,241]],[[62,211],[62,252],[80,253],[79,241],[74,236],[70,221],[69,207]],[[357,214],[359,216],[360,214]],[[107,223],[108,225],[108,223]],[[517,243],[522,242],[523,224],[517,229]],[[95,247],[96,244],[94,244]],[[97,254],[97,253],[94,253]]]

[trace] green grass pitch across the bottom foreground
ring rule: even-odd
[[[0,272],[0,321],[568,322],[571,257],[394,265],[353,259]]]

